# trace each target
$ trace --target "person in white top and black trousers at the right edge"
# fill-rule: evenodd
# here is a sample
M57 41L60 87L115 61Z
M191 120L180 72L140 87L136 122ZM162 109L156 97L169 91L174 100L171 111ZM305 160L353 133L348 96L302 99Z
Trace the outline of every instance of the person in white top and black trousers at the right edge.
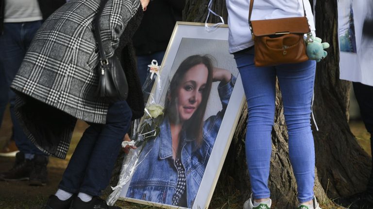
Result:
M361 31L356 32L357 34L361 32L361 42L357 49L360 67L348 69L351 74L343 79L352 81L361 119L371 135L371 149L373 151L373 60L371 55L373 52L373 1L362 2L358 6L361 12L356 15L360 15L363 20L357 22L362 27ZM335 201L349 209L373 209L373 164L365 191L338 198Z

